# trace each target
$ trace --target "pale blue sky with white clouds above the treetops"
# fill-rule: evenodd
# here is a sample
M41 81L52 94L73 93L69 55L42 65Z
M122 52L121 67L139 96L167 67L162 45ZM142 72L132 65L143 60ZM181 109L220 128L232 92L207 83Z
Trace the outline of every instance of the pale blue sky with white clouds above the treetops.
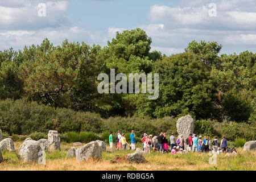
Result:
M255 53L256 1L0 0L0 50L45 38L55 46L65 39L106 46L115 32L134 28L151 37L151 51L166 55L183 52L192 40L216 41L221 53Z

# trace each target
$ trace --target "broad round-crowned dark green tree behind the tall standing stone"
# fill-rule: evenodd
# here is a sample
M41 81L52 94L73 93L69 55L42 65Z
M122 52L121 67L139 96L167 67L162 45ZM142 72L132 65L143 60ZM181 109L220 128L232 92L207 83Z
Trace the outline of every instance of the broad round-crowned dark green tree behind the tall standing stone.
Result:
M148 100L141 94L136 101L137 115L162 118L182 114L207 119L213 113L216 84L197 56L185 52L155 63L159 73L159 98Z

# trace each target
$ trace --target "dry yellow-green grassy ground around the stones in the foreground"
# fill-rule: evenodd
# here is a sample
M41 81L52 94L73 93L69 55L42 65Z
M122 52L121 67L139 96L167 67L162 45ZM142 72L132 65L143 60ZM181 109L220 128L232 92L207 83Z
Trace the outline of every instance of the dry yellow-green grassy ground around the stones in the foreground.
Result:
M76 158L66 159L65 155L72 143L61 143L61 150L47 152L46 165L23 163L19 159L18 148L21 142L15 142L15 152L2 151L3 162L0 170L256 170L256 151L242 151L238 148L237 155L217 155L217 164L209 164L209 154L187 153L182 155L156 154L145 156L147 163L134 164L126 160L130 150L112 153L103 152L100 159L89 159L77 162ZM108 147L107 147L108 148Z

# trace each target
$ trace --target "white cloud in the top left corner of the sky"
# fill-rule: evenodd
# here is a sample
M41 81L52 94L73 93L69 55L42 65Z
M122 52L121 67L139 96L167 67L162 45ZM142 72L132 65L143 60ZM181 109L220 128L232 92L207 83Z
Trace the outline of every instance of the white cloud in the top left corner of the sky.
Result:
M2 1L2 0L1 0ZM38 4L44 1L7 1L0 3L0 30L29 30L61 27L71 23L65 16L67 1L46 1L46 16L39 17Z

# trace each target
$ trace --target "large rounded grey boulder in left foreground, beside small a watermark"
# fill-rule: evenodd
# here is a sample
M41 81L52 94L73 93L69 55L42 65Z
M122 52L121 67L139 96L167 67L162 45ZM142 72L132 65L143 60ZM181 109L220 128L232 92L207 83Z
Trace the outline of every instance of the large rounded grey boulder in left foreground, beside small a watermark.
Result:
M38 141L27 140L19 147L19 155L23 162L38 162L41 147Z

